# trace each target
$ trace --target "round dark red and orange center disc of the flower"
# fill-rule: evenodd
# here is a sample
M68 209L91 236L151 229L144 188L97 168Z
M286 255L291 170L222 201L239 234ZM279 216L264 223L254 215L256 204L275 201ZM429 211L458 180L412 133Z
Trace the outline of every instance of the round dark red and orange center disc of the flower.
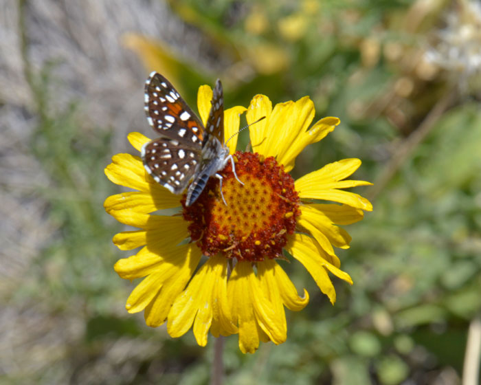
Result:
M210 178L192 206L186 207L182 199L190 237L206 256L222 252L240 261L282 257L287 234L293 234L300 215L294 180L274 157L238 151L234 159L244 185L228 163L221 172L227 206L216 178Z

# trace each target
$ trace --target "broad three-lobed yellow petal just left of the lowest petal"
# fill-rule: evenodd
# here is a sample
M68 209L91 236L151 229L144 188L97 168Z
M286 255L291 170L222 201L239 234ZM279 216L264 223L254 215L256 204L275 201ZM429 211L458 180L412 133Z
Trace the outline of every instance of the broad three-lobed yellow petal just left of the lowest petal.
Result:
M194 322L197 343L205 347L212 321L217 320L225 334L237 332L230 321L227 305L227 260L214 256L195 274L187 289L177 297L168 314L167 331L172 337L185 334Z

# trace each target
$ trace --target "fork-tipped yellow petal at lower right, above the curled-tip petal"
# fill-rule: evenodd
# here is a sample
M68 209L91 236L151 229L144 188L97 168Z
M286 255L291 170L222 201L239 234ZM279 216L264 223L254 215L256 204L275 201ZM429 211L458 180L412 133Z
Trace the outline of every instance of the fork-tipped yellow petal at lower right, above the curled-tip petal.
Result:
M339 270L335 265L323 258L324 253L322 249L316 247L310 236L293 234L287 243L286 250L306 267L307 271L314 278L315 283L317 283L317 286L321 289L321 292L328 296L331 303L335 303L336 293L326 269L351 285L353 284L353 280L349 274Z

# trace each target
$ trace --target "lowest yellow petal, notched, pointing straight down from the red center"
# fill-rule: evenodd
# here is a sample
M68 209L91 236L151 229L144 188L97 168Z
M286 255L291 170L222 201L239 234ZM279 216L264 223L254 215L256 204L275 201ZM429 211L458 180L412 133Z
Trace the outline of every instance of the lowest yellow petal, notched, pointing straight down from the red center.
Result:
M243 353L254 353L259 339L265 340L258 328L275 344L286 340L282 327L284 319L273 311L248 261L238 262L232 270L227 283L227 298L234 324L238 324L239 348Z

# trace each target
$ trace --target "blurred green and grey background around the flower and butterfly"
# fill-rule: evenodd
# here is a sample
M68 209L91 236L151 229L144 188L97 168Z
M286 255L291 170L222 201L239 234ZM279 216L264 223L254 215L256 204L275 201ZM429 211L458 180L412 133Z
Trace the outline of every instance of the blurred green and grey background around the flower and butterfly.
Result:
M309 95L342 124L293 176L359 157L374 211L346 226L350 287L287 342L226 339L227 384L476 384L481 309L481 4L447 0L0 0L0 383L208 384L213 341L170 338L125 301L130 255L102 203L126 135L153 133L157 70L196 110ZM247 143L244 135L240 147ZM462 373L465 371L465 375ZM464 377L464 382L462 378ZM471 382L469 382L471 381Z

